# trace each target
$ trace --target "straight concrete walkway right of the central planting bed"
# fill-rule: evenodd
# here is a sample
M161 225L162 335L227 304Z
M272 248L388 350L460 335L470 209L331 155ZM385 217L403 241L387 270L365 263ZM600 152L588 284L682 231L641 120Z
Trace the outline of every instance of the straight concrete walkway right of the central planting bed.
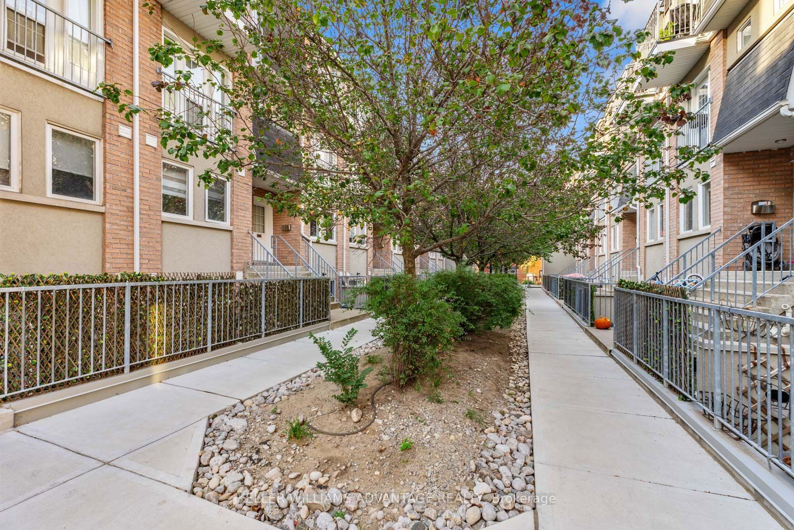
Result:
M527 308L542 530L780 528L549 296Z

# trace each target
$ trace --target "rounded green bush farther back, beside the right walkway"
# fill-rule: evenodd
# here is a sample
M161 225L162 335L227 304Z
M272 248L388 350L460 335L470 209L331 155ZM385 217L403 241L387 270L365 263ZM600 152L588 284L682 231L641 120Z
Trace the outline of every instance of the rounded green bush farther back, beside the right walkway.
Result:
M521 314L524 291L512 274L476 273L458 267L439 271L429 281L463 315L466 332L510 327Z

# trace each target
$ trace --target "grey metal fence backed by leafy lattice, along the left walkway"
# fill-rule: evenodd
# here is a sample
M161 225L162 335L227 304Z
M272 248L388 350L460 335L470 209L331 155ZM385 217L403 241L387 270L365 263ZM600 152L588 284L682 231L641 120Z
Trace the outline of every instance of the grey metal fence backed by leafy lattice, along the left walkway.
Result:
M0 288L0 400L127 373L329 319L328 281Z

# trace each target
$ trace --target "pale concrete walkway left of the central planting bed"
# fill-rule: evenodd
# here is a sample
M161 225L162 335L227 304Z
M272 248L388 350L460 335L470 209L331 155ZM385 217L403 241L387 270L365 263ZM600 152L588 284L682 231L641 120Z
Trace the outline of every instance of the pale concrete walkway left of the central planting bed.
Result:
M372 340L318 335L351 327ZM0 434L0 528L272 528L188 493L206 418L321 359L299 339Z

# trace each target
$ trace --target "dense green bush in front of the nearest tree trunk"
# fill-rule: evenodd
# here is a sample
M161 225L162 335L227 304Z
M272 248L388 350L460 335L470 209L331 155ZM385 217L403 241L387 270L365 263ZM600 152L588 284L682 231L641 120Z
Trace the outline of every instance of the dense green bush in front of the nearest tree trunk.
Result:
M463 333L464 318L429 280L406 274L375 277L364 288L365 309L377 319L373 335L391 349L391 377L400 388L441 366L439 354Z

